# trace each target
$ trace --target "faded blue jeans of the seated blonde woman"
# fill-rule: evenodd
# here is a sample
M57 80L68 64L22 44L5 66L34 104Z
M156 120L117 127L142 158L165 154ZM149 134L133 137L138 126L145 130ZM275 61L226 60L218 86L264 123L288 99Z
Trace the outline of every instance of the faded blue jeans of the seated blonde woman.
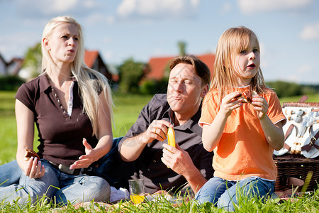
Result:
M45 175L37 179L29 178L18 167L20 169L18 183L0 185L0 201L4 200L12 204L13 200L19 198L19 204L25 204L29 201L34 203L37 201L37 197L41 198L43 196L48 199L55 199L53 202L62 205L66 205L68 201L75 204L78 202L90 202L91 200L96 202L106 202L109 200L111 194L110 185L103 178L61 173L60 170L50 165L47 160L42 160L42 164L45 165ZM1 165L1 171L3 171L3 166ZM14 167L14 165L8 166ZM15 176L17 174L14 171L11 171L11 173ZM8 175L6 173L6 177ZM1 179L4 178L0 177ZM14 182L14 179L10 179L9 182Z

